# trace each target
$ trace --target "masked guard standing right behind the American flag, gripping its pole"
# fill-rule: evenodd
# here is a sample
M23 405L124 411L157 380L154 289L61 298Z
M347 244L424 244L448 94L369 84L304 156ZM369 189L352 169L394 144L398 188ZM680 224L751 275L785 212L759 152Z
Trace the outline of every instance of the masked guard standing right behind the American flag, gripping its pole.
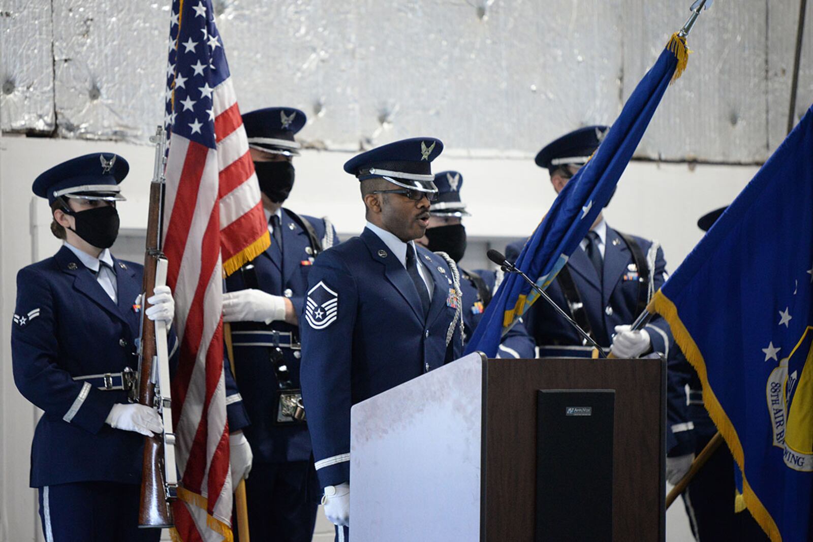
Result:
M302 411L299 319L314 259L337 242L327 218L283 207L293 188L294 135L302 111L268 107L243 115L271 246L226 280L237 388L248 410L254 459L246 479L249 528L257 540L311 540L320 488Z

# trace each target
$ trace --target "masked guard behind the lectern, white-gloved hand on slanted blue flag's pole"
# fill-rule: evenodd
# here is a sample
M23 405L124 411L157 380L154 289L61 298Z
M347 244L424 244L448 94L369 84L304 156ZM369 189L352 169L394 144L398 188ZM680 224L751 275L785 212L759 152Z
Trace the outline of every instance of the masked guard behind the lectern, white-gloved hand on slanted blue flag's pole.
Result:
M550 172L556 193L587 163L607 129L580 128L539 151L537 166ZM524 242L506 247L509 261L516 261ZM567 260L546 293L599 345L612 345L615 356L637 358L654 351L668 357L672 335L663 319L654 318L642 331L630 331L629 325L663 284L665 267L658 243L610 228L599 213L580 249ZM572 326L544 301L537 301L528 310L525 325L537 342L540 358L589 357L592 353L593 347L585 345Z

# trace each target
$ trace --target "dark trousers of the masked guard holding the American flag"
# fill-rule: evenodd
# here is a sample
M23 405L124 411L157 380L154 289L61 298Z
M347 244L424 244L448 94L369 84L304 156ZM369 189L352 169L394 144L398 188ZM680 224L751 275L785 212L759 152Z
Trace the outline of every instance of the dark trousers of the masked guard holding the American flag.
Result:
M311 542L320 494L312 461L254 463L246 479L251 540Z

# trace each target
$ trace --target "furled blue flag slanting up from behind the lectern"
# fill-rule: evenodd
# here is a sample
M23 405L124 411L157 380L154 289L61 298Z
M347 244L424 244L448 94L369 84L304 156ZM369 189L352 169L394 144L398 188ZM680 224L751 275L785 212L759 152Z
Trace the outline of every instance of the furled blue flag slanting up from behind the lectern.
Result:
M672 35L658 61L638 83L598 150L554 200L525 243L515 266L547 288L610 201L615 185L633 158L669 82L680 77L689 50L685 37ZM500 337L520 319L539 294L522 277L506 275L469 340L466 353L497 354Z

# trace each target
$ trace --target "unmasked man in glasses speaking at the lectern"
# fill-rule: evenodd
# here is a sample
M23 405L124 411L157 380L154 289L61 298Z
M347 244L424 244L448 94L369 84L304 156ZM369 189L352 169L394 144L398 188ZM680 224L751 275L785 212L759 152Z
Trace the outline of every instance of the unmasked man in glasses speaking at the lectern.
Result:
M347 540L350 406L459 358L454 260L415 244L437 198L431 163L443 143L418 137L351 158L367 227L316 260L302 318L302 396L324 512Z

